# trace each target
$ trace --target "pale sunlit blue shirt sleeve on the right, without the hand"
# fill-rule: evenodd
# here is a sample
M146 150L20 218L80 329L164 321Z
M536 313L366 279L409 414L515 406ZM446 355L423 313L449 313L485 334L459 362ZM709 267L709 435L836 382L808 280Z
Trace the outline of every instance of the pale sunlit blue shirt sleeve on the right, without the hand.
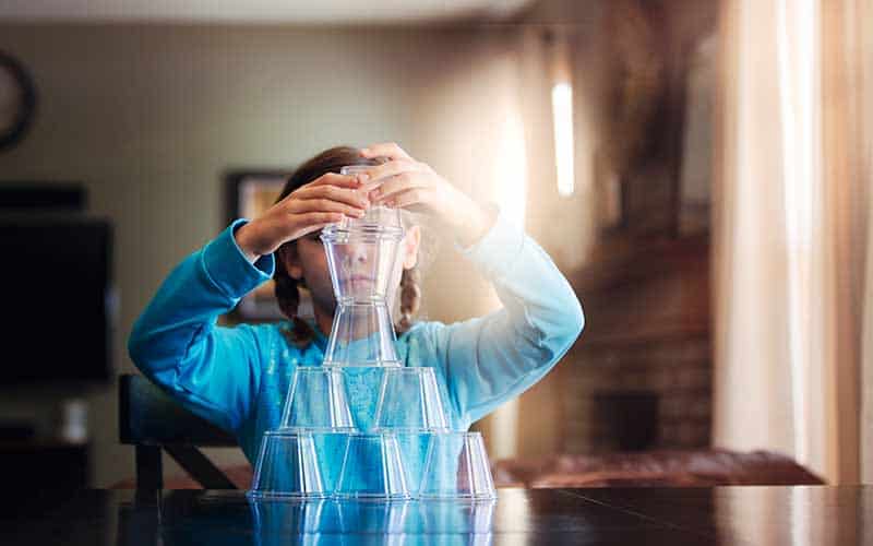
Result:
M584 316L549 256L504 215L461 251L503 304L488 316L431 329L450 397L469 425L542 378L576 341Z

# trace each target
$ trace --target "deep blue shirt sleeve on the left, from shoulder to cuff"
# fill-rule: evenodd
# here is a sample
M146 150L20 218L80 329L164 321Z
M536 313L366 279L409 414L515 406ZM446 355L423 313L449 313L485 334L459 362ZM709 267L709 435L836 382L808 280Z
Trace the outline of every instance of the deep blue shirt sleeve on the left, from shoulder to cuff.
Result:
M218 317L275 269L273 256L249 262L237 246L238 219L169 274L133 325L136 367L182 405L238 430L258 393L259 339L250 325L217 327Z

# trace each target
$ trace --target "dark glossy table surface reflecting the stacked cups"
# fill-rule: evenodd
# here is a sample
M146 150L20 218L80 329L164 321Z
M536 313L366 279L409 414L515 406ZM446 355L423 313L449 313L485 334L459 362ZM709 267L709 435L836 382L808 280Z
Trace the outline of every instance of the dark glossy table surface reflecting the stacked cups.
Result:
M254 502L241 491L9 492L0 544L873 545L873 487L500 489L495 502Z

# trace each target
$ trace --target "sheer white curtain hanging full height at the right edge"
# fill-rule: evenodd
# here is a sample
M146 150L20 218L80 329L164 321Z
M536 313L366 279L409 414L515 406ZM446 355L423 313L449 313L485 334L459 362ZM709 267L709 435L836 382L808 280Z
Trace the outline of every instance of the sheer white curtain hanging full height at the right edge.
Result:
M714 441L832 483L865 430L870 3L725 0L720 29Z

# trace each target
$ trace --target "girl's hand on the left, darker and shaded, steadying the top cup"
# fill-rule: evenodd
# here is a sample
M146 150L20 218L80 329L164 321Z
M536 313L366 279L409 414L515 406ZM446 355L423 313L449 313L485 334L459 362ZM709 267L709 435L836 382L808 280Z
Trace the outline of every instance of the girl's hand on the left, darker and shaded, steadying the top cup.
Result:
M367 175L327 173L301 186L236 230L234 237L249 261L276 251L283 244L340 222L361 217L370 206Z

